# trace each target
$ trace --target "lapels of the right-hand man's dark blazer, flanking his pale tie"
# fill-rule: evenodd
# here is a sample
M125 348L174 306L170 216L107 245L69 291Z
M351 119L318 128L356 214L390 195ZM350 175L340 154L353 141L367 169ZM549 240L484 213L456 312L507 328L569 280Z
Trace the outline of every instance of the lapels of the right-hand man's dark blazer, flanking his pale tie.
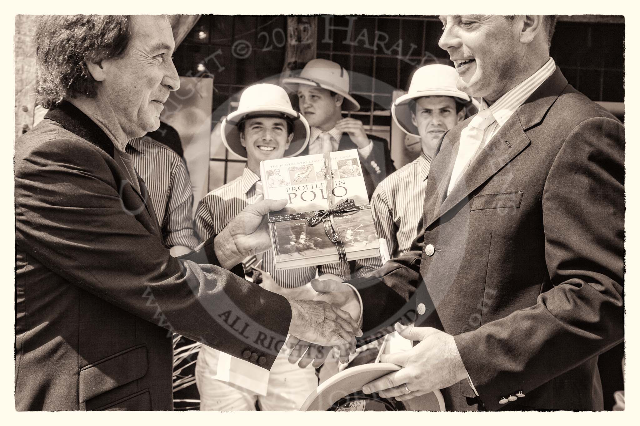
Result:
M427 226L433 224L435 220L438 220L459 202L468 199L468 195L476 190L478 186L490 179L529 146L531 141L529 141L525 131L542 121L548 109L556 102L557 97L566 87L566 84L566 79L560 69L556 67L556 71L527 98L520 108L516 110L515 114L504 123L498 133L493 136L491 141L486 144L484 149L480 151L460 181L452 188L451 194L440 204L440 208L436 207L437 213L427 222ZM452 133L451 138L447 137L449 141L456 141L456 143L451 144L454 147L451 149L451 162L449 163L449 169L447 169L448 174L439 180L438 194L441 197L443 196L442 194L445 194L442 191L446 191L449 186L450 169L453 167L452 164L455 162L458 146L460 146L460 133L466 125L467 121L456 126L456 132L449 132ZM453 137L455 139L452 139Z

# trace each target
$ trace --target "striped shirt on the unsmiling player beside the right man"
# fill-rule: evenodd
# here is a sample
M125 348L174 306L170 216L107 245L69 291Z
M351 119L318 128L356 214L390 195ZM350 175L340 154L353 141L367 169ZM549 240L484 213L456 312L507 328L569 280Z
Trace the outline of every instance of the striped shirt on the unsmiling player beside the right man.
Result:
M371 214L378 238L387 241L389 255L392 258L408 252L418 234L429 167L431 157L423 152L418 158L381 181L371 196ZM381 266L380 257L356 261L356 270L362 275Z

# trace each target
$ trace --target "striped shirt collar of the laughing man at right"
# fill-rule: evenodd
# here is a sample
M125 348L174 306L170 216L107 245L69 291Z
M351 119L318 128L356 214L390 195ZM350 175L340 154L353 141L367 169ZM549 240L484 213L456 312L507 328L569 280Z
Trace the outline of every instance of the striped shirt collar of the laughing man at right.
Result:
M552 73L556 70L556 62L552 57L549 58L547 63L540 68L540 70L534 72L528 79L524 80L518 86L513 87L504 95L493 103L490 107L491 113L500 126L516 112L516 109L522 105L529 96L541 86L545 80L547 80ZM480 110L487 108L484 98L480 99Z

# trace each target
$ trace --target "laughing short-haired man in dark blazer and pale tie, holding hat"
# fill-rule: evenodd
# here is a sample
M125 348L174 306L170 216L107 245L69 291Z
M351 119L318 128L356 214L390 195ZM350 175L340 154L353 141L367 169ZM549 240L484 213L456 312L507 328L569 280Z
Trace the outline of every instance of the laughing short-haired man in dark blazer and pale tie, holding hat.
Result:
M365 337L415 319L396 330L417 344L380 360L403 368L363 390L442 389L461 411L602 409L598 354L624 335L623 125L548 56L555 17L440 19L481 111L440 141L412 251L351 281Z

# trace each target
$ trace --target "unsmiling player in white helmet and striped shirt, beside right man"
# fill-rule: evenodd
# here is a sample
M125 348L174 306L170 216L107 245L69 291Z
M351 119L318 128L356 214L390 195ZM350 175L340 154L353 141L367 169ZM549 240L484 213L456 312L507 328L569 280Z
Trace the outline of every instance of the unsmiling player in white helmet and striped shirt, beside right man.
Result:
M391 105L391 116L404 133L420 137L420 156L384 179L371 197L376 232L387 241L390 256L410 250L418 232L429 167L436 146L447 130L465 119L472 103L456 87L458 72L449 65L425 65L413 73L409 91ZM367 272L382 266L380 257L362 259Z

